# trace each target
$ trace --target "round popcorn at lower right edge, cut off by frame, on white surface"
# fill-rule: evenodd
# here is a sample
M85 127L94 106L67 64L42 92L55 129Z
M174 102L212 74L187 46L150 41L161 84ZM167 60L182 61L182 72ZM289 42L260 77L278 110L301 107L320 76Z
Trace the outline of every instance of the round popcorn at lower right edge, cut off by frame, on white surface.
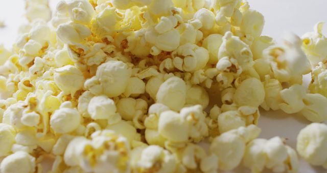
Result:
M312 165L323 165L327 169L327 126L322 123L311 123L301 129L297 136L298 154Z

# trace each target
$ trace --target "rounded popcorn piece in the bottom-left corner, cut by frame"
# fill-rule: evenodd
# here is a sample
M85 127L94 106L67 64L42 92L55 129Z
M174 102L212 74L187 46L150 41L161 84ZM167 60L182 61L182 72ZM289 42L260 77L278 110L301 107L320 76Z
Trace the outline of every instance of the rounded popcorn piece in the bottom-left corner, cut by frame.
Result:
M32 173L35 171L35 158L26 152L16 152L12 155L7 156L1 162L0 170L4 173Z

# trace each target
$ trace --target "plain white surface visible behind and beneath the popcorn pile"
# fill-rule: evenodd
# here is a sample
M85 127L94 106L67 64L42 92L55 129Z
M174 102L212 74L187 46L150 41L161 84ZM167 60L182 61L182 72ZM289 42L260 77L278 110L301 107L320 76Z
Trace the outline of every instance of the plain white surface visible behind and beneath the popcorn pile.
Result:
M58 0L50 0L52 7ZM285 32L302 35L312 31L318 21L327 21L325 12L327 0L248 0L252 9L261 12L266 19L263 35L281 40ZM0 20L5 20L5 28L0 28L0 44L10 48L16 39L19 24L24 19L23 0L1 0ZM324 32L326 33L326 32ZM305 79L310 81L310 77ZM287 138L287 144L295 148L296 136L309 121L300 115L287 115L283 112L264 112L259 121L262 128L261 138L281 136ZM246 172L242 168L233 172ZM268 172L268 171L267 171ZM300 173L327 172L321 167L312 167L301 160Z

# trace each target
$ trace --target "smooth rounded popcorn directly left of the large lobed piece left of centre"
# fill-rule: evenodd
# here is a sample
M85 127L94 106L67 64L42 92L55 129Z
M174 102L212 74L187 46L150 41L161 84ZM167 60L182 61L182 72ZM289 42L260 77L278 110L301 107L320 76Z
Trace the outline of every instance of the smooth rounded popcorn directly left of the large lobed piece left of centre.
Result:
M72 96L83 88L85 81L83 73L72 65L56 69L54 79L60 90Z

